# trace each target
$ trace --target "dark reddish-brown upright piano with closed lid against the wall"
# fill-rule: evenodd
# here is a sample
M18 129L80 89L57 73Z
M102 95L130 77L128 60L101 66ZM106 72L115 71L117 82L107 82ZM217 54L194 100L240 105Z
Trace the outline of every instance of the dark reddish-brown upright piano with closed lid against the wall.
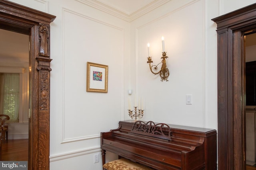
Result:
M120 121L118 129L101 133L102 163L108 150L156 170L216 170L216 134L214 129Z

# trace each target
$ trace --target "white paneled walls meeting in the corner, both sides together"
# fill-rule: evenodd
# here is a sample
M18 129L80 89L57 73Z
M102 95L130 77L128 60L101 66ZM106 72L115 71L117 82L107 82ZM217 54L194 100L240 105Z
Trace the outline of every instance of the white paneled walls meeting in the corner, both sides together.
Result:
M128 23L82 1L12 0L57 16L51 23L50 169L100 170L100 132L128 117L128 98L144 98L144 120L217 129L217 34L212 18L252 0L171 0ZM168 82L147 61L160 63ZM106 64L108 93L86 92L86 62ZM131 96L128 90L133 90ZM192 105L186 105L192 94ZM108 157L108 159L111 159Z

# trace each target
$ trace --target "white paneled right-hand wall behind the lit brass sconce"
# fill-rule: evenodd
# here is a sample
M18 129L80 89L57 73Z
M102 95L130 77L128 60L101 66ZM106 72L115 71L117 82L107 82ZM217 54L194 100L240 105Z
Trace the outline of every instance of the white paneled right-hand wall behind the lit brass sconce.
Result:
M212 96L212 104L215 104L213 115L206 108L208 88L216 90L215 84L208 86L208 69L214 71L216 78L217 53L209 52L211 42L217 42L216 25L210 19L218 16L218 12L212 12L208 18L208 8L211 10L218 6L204 0L172 0L161 8L148 13L140 19L132 22L134 41L137 48L132 49L136 55L137 64L136 84L138 98L145 98L146 111L144 120L154 120L178 125L217 128L216 94ZM157 12L156 12L157 11ZM162 11L165 11L163 14ZM207 30L211 31L208 35ZM133 35L133 33L131 33ZM151 55L154 64L161 62L162 43L165 39L167 51L167 67L170 72L168 82L161 82L159 76L155 76L146 64L148 56L147 43L151 46ZM212 36L209 40L209 36ZM214 44L216 45L216 43ZM208 59L212 63L208 66ZM215 63L215 64L214 64ZM160 64L161 66L161 64ZM208 68L209 67L209 68ZM146 88L145 88L146 87ZM186 94L192 94L192 105L186 105ZM210 106L209 106L210 107ZM208 117L212 120L210 125Z

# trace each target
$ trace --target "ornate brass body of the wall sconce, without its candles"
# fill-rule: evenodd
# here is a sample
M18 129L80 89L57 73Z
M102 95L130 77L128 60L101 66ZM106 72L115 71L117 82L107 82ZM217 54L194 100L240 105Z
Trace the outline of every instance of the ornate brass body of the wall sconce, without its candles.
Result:
M153 63L153 61L152 61L152 59L151 59L151 57L148 57L148 61L147 61L147 63L149 64L149 68L150 68L150 71L153 73L153 74L159 74L160 75L160 78L161 78L161 81L168 81L167 79L168 79L168 76L170 75L170 73L169 73L169 70L168 70L168 68L166 68L166 58L168 58L167 56L166 56L166 52L162 52L162 57L161 57L161 59L162 59L162 66L161 66L161 69L158 71L158 72L154 72L154 71L157 71L158 70L158 65L159 64L161 64L161 63L159 63L159 64L157 64L157 65L151 65L151 63ZM152 69L153 68L153 69ZM154 71L153 71L154 70Z

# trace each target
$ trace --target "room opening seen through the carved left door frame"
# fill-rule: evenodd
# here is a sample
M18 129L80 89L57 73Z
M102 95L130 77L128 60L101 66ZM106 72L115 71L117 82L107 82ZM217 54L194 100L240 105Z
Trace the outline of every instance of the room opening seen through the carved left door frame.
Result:
M6 121L8 140L6 136L6 141L2 143L1 157L4 161L28 161L29 36L0 29L0 37L0 73L2 77L19 74L17 86L20 96L18 106L6 103L6 106L10 106L7 110L1 107L1 114L10 116L10 120ZM2 99L4 101L4 97ZM17 149L22 152L17 152Z

